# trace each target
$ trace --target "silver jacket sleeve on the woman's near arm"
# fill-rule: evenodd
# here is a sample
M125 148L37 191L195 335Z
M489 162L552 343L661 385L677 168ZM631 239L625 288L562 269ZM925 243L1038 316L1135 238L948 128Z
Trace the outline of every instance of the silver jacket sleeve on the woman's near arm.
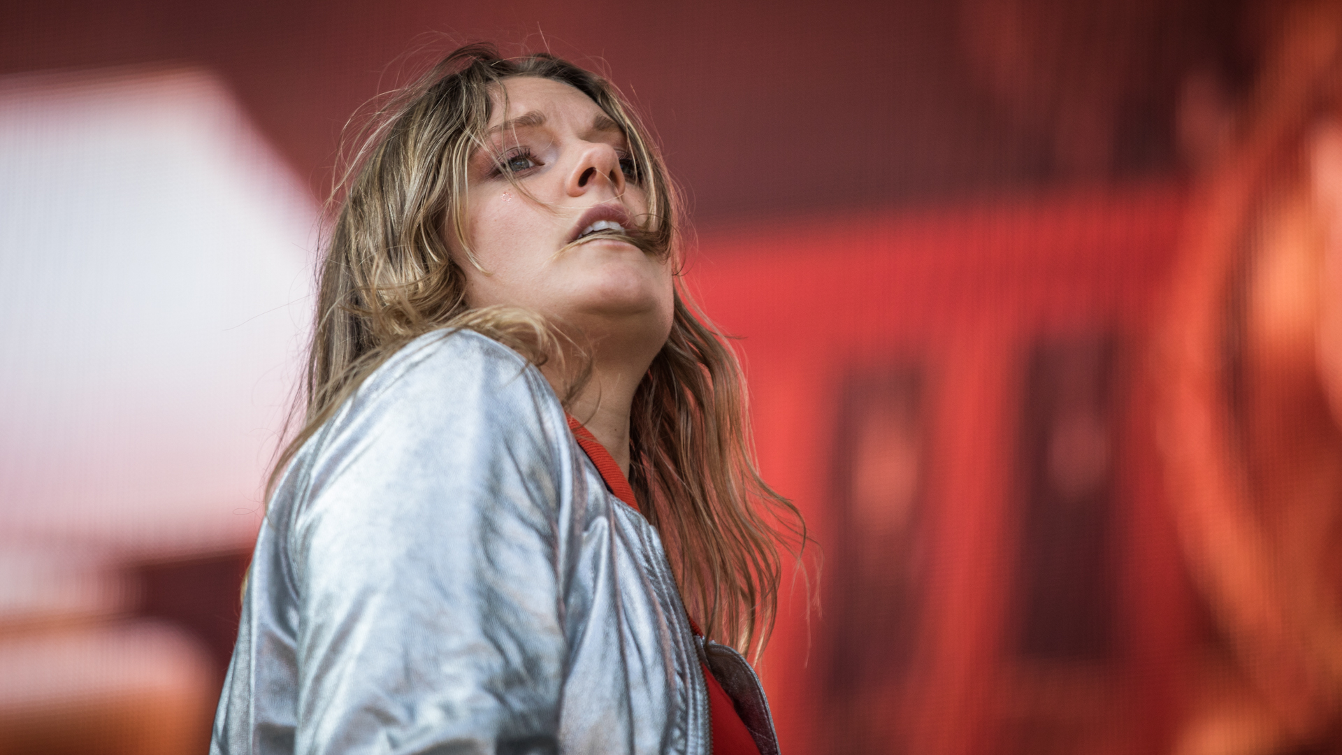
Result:
M562 410L482 336L403 355L330 423L293 515L295 752L557 752Z

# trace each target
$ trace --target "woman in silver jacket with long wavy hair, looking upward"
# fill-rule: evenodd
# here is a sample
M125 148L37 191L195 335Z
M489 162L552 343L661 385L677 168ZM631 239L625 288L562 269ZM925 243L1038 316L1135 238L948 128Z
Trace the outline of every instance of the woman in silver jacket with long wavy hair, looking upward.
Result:
M804 531L613 87L458 50L342 183L212 752L776 752Z

